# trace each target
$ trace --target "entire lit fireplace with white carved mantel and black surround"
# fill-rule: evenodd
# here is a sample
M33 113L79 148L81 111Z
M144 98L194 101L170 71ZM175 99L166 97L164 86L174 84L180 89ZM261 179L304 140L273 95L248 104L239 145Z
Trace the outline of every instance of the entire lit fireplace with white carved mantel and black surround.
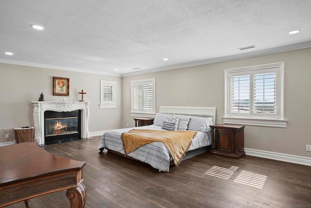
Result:
M64 139L75 140L89 137L89 102L32 103L34 104L35 141L38 145L62 142ZM56 114L46 117L46 114L51 113L50 111Z

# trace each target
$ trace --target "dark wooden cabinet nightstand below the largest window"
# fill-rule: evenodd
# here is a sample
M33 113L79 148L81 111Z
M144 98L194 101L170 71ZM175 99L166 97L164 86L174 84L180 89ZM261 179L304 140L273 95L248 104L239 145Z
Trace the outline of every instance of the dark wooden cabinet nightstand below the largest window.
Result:
M211 153L237 159L245 155L244 127L243 125L227 124L215 124L210 126L212 129Z

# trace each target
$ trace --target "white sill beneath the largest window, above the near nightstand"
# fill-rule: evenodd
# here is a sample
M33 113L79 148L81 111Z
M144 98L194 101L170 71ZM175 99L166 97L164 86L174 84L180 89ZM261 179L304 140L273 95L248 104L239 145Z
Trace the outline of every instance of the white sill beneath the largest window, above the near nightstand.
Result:
M287 120L223 117L224 123L286 128Z

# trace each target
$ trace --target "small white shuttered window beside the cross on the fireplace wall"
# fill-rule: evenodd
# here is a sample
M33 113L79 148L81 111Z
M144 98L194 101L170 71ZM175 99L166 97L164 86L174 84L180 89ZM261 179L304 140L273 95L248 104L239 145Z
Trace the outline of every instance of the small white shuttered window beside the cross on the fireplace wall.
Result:
M101 104L100 108L117 108L115 81L101 80Z

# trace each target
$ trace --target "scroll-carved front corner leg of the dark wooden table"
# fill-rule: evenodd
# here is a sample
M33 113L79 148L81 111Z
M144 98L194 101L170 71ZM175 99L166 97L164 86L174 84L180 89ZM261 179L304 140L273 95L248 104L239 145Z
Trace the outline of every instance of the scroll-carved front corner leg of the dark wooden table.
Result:
M70 200L70 208L84 208L86 205L86 187L83 183L77 188L68 189L66 196Z

